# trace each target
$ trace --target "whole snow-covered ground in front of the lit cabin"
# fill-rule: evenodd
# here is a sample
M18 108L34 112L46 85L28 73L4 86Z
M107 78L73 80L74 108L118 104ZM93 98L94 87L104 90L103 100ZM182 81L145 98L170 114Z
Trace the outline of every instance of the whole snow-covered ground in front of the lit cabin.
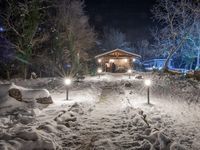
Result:
M146 78L153 82L150 105ZM134 73L131 79L124 74L86 77L73 83L68 101L62 79L12 82L32 101L49 96L47 89L54 103L27 107L27 101L6 95L10 85L1 81L0 149L200 149L197 81L151 73ZM4 108L5 101L16 109Z

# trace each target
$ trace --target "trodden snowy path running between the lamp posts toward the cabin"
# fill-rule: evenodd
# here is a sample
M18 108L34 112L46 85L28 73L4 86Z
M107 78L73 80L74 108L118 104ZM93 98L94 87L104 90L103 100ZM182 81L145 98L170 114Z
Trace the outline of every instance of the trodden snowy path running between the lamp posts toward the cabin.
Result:
M79 120L81 126L78 134L84 144L78 149L115 150L140 146L138 140L134 141L131 120L122 110L122 96L113 87L103 88L100 101L93 111ZM136 132L139 134L142 131Z

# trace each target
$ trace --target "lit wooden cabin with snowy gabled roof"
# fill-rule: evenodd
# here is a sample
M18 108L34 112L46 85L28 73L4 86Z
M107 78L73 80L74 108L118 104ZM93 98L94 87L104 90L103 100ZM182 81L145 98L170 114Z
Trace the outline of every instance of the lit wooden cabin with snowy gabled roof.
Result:
M104 72L127 72L133 69L134 62L141 58L140 55L127 52L122 49L115 49L95 56L98 66Z

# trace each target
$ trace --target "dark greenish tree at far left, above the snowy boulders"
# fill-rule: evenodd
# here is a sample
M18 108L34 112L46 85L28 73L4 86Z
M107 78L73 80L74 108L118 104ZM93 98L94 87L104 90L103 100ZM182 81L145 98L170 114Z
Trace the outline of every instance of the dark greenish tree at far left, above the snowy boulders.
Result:
M40 21L39 0L8 0L5 5L6 8L1 13L6 28L4 36L16 50L16 59L22 63L22 72L26 79Z

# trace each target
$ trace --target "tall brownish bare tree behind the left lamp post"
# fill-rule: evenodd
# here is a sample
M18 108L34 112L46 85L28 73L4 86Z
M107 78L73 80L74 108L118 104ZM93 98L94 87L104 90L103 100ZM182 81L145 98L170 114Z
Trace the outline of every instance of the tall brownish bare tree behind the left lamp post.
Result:
M94 46L96 34L84 13L83 1L60 0L57 6L53 29L57 69L64 75L63 66L68 63L70 72L76 73L81 69L81 61L87 60L87 50Z

